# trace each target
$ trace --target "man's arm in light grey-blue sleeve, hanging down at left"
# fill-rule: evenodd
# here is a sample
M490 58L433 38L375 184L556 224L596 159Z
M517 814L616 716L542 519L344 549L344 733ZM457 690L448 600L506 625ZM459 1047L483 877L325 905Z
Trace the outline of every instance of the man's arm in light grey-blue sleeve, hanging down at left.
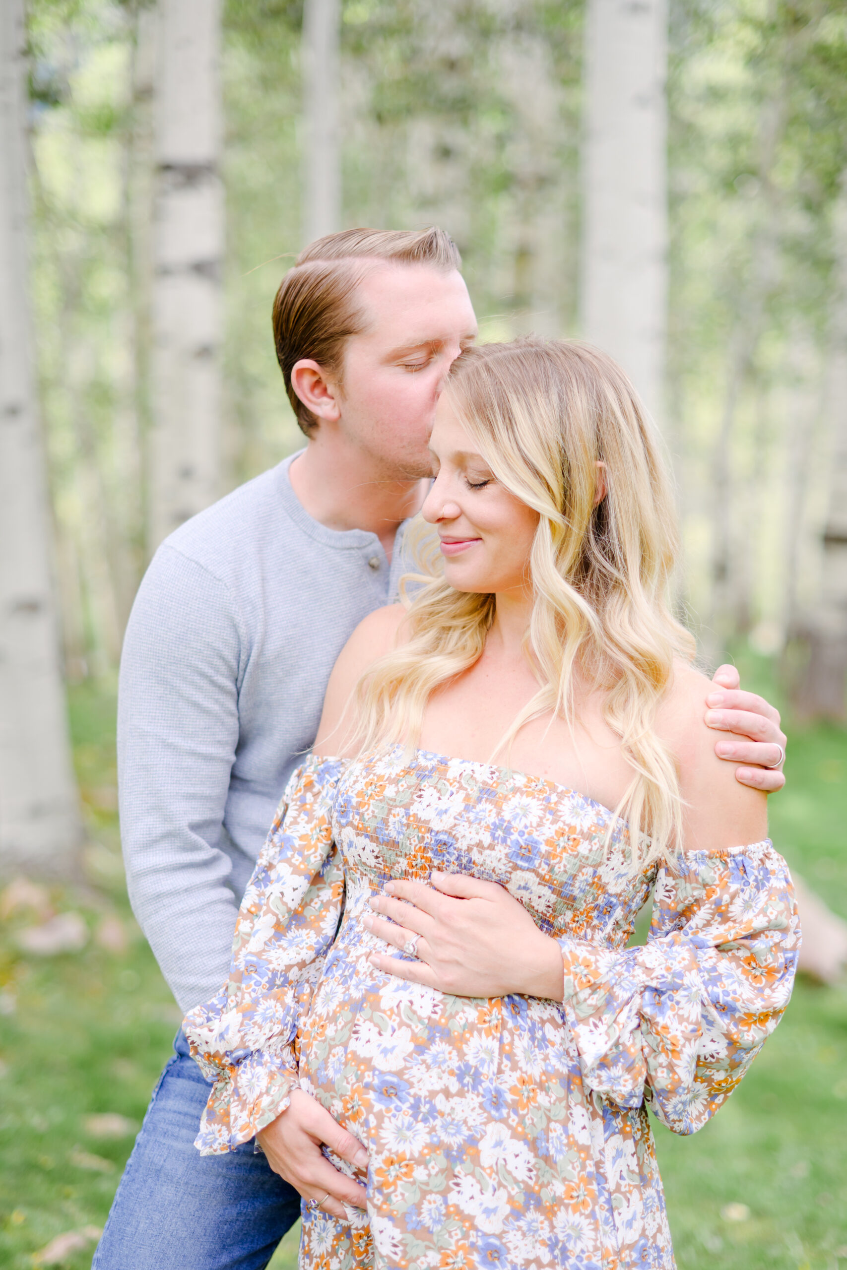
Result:
M121 659L118 790L132 908L184 1011L230 968L237 903L221 841L243 640L226 587L160 547Z

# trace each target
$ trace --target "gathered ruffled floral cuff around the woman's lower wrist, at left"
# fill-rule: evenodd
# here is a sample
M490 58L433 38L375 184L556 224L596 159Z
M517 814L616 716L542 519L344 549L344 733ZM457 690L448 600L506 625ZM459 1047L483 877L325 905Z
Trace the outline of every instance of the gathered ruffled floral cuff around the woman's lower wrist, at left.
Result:
M293 999L286 993L284 1003L270 994L246 1035L244 1016L226 1008L225 992L185 1017L192 1057L215 1082L194 1142L202 1156L249 1142L287 1109L298 1086L297 1020L309 1008L311 992L311 984L301 984ZM239 1030L241 1044L231 1049Z

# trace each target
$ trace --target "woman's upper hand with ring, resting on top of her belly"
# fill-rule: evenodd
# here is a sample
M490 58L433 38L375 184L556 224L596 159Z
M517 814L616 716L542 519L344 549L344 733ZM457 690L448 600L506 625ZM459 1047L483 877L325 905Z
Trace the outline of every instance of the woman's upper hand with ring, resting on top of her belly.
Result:
M401 949L419 935L415 961L380 952L371 964L400 979L424 983L456 997L549 997L561 1001L564 969L555 940L544 935L526 908L503 886L464 874L432 874L432 885L386 883L370 900L363 922L386 944Z

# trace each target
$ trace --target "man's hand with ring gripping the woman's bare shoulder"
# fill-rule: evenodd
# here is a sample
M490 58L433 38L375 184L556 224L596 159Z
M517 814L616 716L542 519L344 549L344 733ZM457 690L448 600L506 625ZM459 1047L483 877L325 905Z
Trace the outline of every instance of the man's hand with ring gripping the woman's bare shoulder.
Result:
M780 758L785 761L786 738L780 730L780 711L754 692L742 692L734 665L719 665L712 683L715 691L706 697L706 724L717 732L737 734L735 740L721 738L716 742L715 753L730 763L753 765L737 768L735 780L750 789L776 794L785 785ZM780 766L771 767L771 763Z

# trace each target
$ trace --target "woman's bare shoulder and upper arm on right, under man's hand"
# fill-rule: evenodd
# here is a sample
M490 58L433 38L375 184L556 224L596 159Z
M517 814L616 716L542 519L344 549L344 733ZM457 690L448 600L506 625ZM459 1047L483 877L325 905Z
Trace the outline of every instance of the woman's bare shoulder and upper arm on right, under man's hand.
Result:
M737 765L715 753L717 734L705 721L711 687L702 672L678 660L657 718L677 761L687 851L721 851L767 837L767 795L740 785Z

